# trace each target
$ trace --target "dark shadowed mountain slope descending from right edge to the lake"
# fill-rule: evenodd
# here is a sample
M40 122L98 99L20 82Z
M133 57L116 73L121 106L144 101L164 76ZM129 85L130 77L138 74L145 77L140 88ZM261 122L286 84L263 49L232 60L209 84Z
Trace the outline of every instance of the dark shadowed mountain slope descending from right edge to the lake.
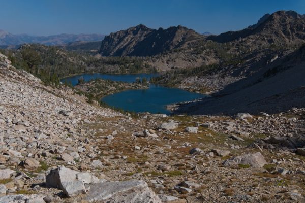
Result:
M305 46L227 85L208 99L181 105L189 114L277 113L305 104ZM208 107L208 108L206 108Z

